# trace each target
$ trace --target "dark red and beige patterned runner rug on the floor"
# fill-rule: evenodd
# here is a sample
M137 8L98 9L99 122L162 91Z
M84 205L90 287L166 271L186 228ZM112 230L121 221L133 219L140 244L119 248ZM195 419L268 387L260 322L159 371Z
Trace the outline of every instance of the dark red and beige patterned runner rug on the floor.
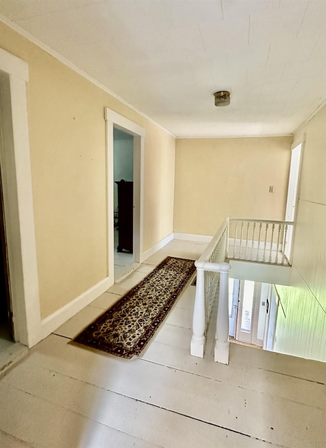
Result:
M121 358L140 356L195 269L194 260L167 257L74 342Z

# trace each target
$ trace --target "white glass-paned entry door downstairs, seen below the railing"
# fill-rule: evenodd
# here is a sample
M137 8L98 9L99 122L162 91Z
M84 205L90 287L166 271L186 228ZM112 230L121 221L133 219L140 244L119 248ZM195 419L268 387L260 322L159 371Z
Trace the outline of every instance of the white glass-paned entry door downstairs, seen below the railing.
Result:
M273 285L230 278L230 340L273 351L278 311L276 297Z

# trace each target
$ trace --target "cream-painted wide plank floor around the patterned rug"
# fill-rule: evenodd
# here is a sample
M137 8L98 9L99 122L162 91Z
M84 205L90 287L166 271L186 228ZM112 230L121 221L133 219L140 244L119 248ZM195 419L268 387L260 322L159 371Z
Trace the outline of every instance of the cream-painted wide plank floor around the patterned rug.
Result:
M195 287L188 286L141 359L123 361L69 339L167 255L172 241L35 346L0 381L0 446L326 446L326 364L231 343L230 365L189 355Z

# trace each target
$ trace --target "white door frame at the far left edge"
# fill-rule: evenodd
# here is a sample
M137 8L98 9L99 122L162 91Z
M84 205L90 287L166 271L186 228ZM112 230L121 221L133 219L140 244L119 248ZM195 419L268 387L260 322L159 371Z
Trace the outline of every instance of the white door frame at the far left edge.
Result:
M32 174L26 102L26 62L0 48L0 166L15 340L42 339Z

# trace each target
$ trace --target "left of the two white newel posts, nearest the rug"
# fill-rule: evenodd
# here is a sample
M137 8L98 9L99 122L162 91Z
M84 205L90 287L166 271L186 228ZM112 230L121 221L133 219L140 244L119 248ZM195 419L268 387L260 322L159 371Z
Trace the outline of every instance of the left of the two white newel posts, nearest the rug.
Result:
M204 357L205 352L205 291L204 291L204 263L195 261L197 267L196 295L193 315L193 337L190 344L190 354Z

